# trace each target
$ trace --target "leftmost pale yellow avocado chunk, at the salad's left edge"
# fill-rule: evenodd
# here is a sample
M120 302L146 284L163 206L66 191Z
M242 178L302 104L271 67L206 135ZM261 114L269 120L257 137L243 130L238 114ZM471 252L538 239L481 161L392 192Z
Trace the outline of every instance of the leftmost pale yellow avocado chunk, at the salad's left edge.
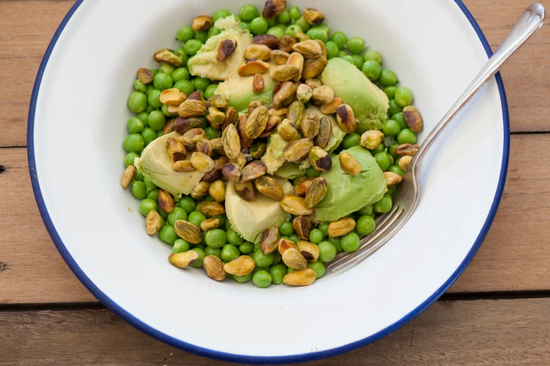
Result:
M161 189L168 191L176 199L183 194L190 194L193 188L201 182L204 173L199 170L192 172L175 172L172 170L172 158L166 149L166 140L169 137L178 137L178 133L168 133L151 142L140 158L135 159L135 167L144 177L152 180ZM191 154L187 156L190 158Z

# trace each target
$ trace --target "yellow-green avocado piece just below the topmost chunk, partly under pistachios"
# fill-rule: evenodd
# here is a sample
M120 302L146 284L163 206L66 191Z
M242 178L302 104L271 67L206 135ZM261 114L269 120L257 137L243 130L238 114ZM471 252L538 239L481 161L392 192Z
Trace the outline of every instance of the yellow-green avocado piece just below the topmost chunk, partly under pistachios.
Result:
M276 66L271 64L271 67ZM266 72L262 75L264 78L264 90L256 94L252 90L254 76L231 76L229 79L217 86L216 94L221 94L227 99L227 104L241 113L246 113L248 104L260 100L264 105L273 102L273 89L277 82L269 77Z

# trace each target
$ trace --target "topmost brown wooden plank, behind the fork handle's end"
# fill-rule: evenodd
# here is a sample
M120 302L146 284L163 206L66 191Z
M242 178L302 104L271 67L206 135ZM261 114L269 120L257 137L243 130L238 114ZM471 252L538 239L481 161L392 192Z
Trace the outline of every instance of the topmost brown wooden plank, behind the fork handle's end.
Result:
M523 0L495 6L494 0L465 1L496 48L514 24ZM26 145L27 106L34 76L48 43L73 1L0 1L0 147ZM29 11L32 9L32 11ZM550 27L543 27L521 53L504 67L511 128L549 131L546 110L550 107ZM19 72L13 77L13 70Z

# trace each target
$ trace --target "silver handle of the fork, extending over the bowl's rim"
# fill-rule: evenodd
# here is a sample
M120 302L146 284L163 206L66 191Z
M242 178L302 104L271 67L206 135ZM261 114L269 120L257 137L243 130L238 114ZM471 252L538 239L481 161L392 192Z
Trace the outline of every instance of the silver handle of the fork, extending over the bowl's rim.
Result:
M410 162L410 169L416 170L417 168L420 168L422 158L424 158L431 145L434 144L436 138L441 135L443 130L449 125L452 118L457 115L460 109L464 107L464 104L466 104L471 97L473 97L481 89L481 87L483 87L485 83L492 78L492 76L497 74L504 62L507 62L507 60L514 55L514 53L516 53L516 51L519 50L521 46L523 46L523 44L528 41L533 34L535 34L535 32L537 32L537 30L542 26L545 17L546 12L544 11L544 6L541 4L531 4L527 9L525 9L523 15L521 15L506 38L504 38L504 41L502 41L500 47L495 51L495 53L493 53L487 63L485 63L474 81L471 82L460 98L458 98L457 102L441 119L436 128L434 128L426 140L424 140L424 143L418 149L415 157L412 158L412 161Z

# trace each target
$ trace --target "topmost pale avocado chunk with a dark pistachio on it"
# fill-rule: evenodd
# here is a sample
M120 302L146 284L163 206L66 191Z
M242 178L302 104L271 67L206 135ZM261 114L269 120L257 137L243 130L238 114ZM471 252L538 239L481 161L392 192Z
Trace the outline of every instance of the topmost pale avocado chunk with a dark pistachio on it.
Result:
M235 21L233 15L217 20L215 27L224 30L217 36L211 36L203 44L201 50L189 59L187 67L189 67L189 73L194 76L226 80L237 74L237 70L244 60L244 52L252 43L252 35L239 27L239 23ZM217 60L217 47L224 39L237 41L237 46L227 60L220 62ZM252 83L250 83L250 88L252 88Z

